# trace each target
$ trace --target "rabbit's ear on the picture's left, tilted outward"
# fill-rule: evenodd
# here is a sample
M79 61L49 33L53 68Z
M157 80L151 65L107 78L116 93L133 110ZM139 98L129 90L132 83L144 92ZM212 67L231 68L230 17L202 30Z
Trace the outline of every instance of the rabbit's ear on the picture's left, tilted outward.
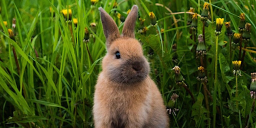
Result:
M106 48L108 49L111 42L120 37L120 32L110 15L102 7L99 7L98 10L100 11L103 31L106 37Z

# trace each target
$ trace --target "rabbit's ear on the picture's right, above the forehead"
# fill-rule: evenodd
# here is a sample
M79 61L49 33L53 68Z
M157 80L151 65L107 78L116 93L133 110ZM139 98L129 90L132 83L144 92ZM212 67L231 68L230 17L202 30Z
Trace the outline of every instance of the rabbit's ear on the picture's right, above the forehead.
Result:
M133 5L127 18L125 19L123 28L122 28L122 36L135 38L134 28L138 15L138 7L137 5Z

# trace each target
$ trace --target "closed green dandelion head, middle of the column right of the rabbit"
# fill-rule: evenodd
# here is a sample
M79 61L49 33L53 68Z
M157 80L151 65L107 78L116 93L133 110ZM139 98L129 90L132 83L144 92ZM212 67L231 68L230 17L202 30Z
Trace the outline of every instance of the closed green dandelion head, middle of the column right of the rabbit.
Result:
M203 35L198 35L198 43L196 46L196 57L204 56L206 54L206 47L203 41Z

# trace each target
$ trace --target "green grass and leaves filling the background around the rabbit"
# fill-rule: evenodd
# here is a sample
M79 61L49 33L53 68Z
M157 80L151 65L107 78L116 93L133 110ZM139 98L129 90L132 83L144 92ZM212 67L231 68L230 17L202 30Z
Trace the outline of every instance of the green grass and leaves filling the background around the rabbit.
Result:
M116 0L117 7L113 8L114 1L100 0L92 5L89 0L0 0L0 127L93 127L94 85L106 52L97 8L102 6L109 12L121 29L123 23L117 12L125 17L133 4L145 19L147 31L136 32L136 38L150 62L151 78L165 104L173 93L179 95L172 106L179 110L169 115L170 127L256 126L256 112L251 111L254 101L248 89L250 73L256 72L255 1L206 1L211 15L208 26L203 26L198 16L194 34L197 38L204 28L207 54L202 60L207 82L196 79L202 61L196 58L198 41L190 38L187 24L189 8L200 15L204 0ZM67 8L72 10L72 18L77 18L77 25L63 16L61 10ZM150 25L150 11L156 16L156 26ZM241 12L245 22L251 23L251 38L247 47L241 48L246 52L241 76L236 79L232 60L239 59L239 48L232 45L230 53L224 25L216 40L214 21L224 18L231 22L233 32L238 32ZM6 26L3 21L7 21ZM137 20L136 31L139 23ZM9 36L9 28L14 38ZM187 89L175 83L175 65L180 67L194 103Z

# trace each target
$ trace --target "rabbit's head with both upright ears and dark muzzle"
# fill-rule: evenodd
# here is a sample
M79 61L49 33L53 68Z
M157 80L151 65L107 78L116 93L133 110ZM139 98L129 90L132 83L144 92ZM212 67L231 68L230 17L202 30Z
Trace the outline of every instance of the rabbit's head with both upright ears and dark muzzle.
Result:
M143 56L141 44L135 39L134 27L138 7L133 5L125 19L122 34L114 20L99 7L107 53L102 60L102 72L110 81L133 84L144 80L149 73L149 63Z

